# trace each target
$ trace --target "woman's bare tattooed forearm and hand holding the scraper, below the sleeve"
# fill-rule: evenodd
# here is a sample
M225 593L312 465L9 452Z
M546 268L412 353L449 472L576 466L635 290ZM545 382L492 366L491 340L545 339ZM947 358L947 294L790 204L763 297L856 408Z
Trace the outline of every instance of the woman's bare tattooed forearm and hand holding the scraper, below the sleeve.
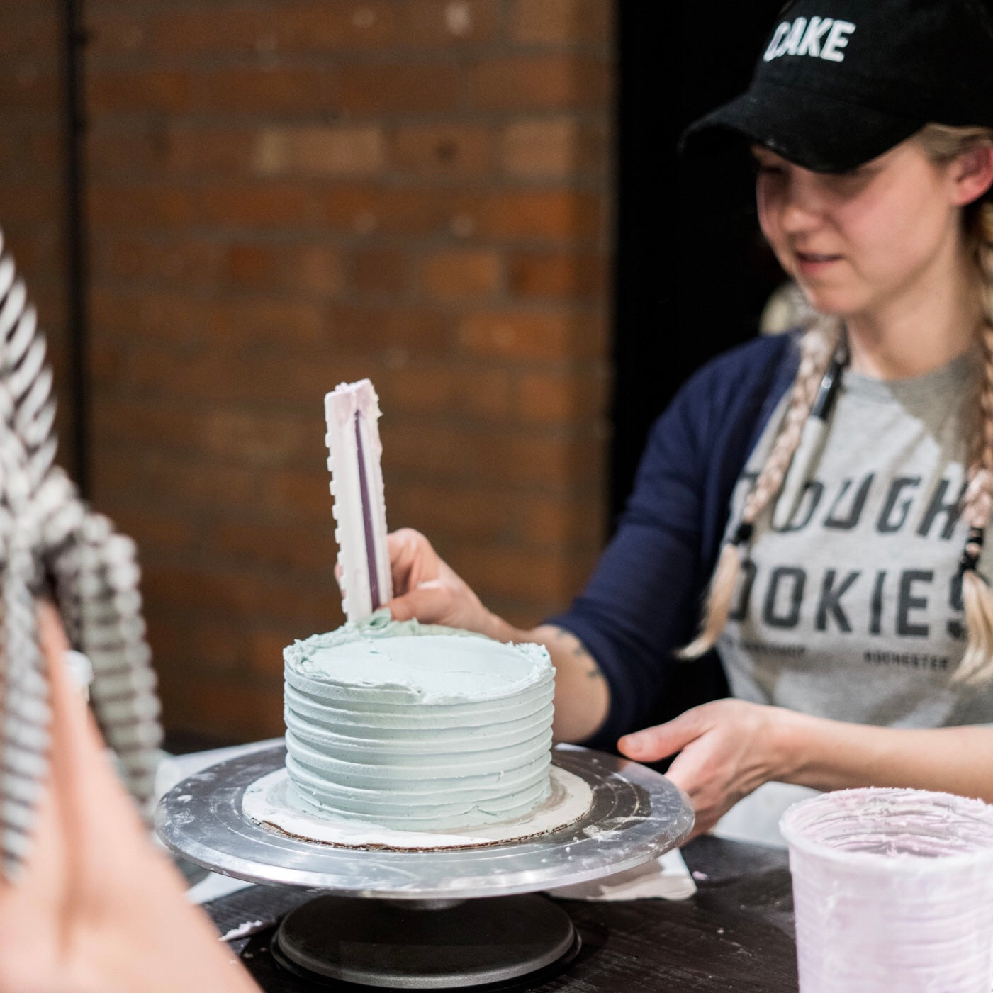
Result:
M610 689L579 638L552 625L524 631L507 624L483 606L419 531L394 531L388 541L393 588L398 594L387 605L394 620L416 618L424 624L462 628L498 641L543 644L555 666L555 740L584 741L599 729L610 708Z

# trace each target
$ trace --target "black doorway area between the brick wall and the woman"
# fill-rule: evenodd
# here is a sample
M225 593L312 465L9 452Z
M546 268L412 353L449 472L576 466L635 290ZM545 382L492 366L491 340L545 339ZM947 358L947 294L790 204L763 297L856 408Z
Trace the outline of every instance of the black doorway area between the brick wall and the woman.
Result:
M709 358L756 333L782 276L747 163L687 164L682 130L748 85L783 0L619 0L612 508L651 422Z

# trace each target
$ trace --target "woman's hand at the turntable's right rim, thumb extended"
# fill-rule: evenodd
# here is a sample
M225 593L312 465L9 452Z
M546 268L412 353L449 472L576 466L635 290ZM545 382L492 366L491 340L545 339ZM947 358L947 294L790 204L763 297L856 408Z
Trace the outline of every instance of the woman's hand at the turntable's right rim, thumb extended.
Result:
M696 811L690 837L710 830L743 796L777 779L782 711L745 700L715 700L667 724L626 735L620 751L636 762L676 755L665 774Z

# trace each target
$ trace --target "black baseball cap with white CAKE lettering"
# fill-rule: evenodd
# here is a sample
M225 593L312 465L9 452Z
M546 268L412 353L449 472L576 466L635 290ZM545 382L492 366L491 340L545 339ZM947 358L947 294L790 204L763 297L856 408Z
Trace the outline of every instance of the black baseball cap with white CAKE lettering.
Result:
M747 92L696 121L692 155L747 139L806 169L854 169L925 124L993 127L983 0L797 0Z

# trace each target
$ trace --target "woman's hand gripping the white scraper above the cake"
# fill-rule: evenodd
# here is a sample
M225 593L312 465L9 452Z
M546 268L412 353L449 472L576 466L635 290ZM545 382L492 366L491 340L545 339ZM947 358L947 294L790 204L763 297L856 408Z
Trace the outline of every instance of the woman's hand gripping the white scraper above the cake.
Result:
M394 621L420 621L502 638L503 622L488 611L466 582L444 562L420 531L405 527L388 535Z

